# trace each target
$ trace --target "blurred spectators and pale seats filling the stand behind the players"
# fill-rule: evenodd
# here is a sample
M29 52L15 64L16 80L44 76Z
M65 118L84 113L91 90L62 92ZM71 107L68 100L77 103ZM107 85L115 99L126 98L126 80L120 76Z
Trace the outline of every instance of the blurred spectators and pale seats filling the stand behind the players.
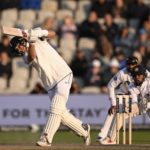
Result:
M149 0L35 1L16 0L18 5L14 6L6 0L9 7L0 7L0 23L22 29L54 30L57 36L49 42L73 71L71 93L107 93L107 83L125 66L130 55L150 69ZM4 12L14 9L17 19L11 17L4 22ZM28 15L23 20L23 12L34 12L35 16ZM9 40L7 35L1 35L1 93L46 93L32 67L27 68L21 58L11 57Z

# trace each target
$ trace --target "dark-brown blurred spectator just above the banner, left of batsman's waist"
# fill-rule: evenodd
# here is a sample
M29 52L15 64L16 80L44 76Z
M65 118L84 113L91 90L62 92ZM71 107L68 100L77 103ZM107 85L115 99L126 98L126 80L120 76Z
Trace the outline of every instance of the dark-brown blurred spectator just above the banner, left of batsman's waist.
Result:
M42 84L40 82L37 82L31 90L30 94L46 94L46 90L43 88Z

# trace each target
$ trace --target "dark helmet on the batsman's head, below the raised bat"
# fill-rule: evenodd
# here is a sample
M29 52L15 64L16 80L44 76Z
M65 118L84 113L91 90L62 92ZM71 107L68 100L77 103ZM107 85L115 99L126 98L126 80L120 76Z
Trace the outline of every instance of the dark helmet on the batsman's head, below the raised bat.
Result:
M22 44L22 45L26 46L27 40L23 37L18 37L18 36L13 37L10 41L10 44L9 44L11 55L13 55L13 56L22 56L22 55L24 55L24 52L19 52L16 49L17 44Z

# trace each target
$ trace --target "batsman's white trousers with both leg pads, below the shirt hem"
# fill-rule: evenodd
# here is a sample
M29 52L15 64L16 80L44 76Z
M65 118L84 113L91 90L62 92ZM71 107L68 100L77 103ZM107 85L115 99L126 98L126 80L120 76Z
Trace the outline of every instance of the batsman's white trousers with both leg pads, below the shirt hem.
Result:
M73 75L69 74L61 80L55 88L48 91L51 99L50 112L47 123L41 135L46 137L49 143L52 143L53 136L58 130L60 123L65 124L78 135L86 137L88 132L82 127L82 122L75 118L66 108Z

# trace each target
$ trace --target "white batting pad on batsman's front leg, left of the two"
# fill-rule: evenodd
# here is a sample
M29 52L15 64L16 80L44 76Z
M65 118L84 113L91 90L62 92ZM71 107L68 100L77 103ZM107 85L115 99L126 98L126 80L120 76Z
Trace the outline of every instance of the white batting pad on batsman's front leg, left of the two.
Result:
M60 115L50 113L41 138L45 136L48 142L52 143L53 137L60 126L60 122Z

